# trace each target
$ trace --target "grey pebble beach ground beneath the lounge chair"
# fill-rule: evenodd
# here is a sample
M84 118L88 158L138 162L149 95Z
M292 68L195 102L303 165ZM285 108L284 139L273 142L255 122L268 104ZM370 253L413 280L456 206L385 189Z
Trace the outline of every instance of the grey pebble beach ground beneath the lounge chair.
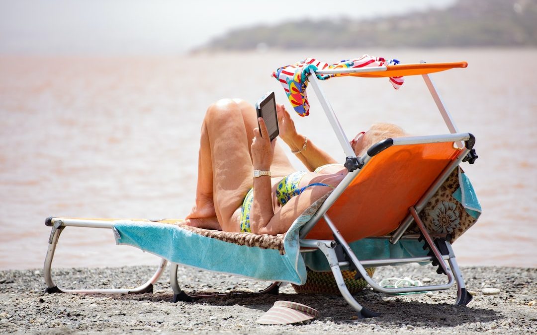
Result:
M148 279L149 266L102 269L59 269L56 283L65 288L134 287ZM537 332L537 269L462 267L474 299L454 303L455 287L445 292L388 296L366 288L355 295L380 317L357 319L338 296L296 294L291 285L279 295L215 297L172 303L168 271L153 294L43 294L42 270L0 271L0 333L412 333L473 334ZM434 276L433 276L434 274ZM410 277L440 282L431 266L378 268L373 278ZM255 291L266 282L179 267L185 291ZM136 280L138 279L138 280ZM498 292L499 291L499 292ZM306 304L320 311L313 322L300 325L260 325L255 321L277 300Z

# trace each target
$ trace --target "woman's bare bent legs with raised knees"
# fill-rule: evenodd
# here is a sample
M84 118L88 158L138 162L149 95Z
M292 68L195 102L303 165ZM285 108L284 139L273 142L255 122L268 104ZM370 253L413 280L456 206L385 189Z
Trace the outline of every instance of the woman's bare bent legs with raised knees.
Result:
M196 204L186 224L238 231L237 209L252 187L250 145L255 127L256 111L242 100L224 99L208 108L201 129ZM271 170L273 176L294 171L279 146Z

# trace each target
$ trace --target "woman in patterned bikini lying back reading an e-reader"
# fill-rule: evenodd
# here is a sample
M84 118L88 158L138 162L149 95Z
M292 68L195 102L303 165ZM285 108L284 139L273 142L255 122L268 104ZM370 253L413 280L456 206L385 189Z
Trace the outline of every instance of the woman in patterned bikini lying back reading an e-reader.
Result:
M335 188L347 170L296 132L291 116L277 105L280 138L310 172L296 171L263 119L249 103L217 101L201 126L195 206L185 224L227 232L276 235L317 199ZM351 141L358 156L372 144L404 135L392 124L376 124ZM260 175L253 177L259 170Z

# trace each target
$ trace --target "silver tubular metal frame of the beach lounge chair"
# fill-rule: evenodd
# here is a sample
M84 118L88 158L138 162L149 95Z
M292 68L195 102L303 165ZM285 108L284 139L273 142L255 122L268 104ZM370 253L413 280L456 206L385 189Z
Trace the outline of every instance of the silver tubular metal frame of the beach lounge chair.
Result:
M386 71L386 66L379 66L378 68L358 68L358 69L336 69L336 70L318 70L316 73L318 75L327 75L332 73L360 73L360 72L372 72L372 71ZM422 144L422 143L438 143L438 142L454 142L460 148L460 153L458 157L453 160L445 170L438 176L437 180L431 185L431 187L425 192L423 197L416 203L416 205L409 208L409 213L407 217L402 221L402 224L395 230L390 236L382 236L379 238L388 239L391 243L396 243L400 239L417 239L418 236L405 236L404 233L412 222L416 222L421 236L425 239L427 247L432 251L432 256L423 256L423 257L409 257L409 258L395 258L395 259L381 259L381 260L359 260L358 257L351 250L349 244L345 241L342 234L339 233L336 225L329 216L326 214L330 206L335 203L337 198L343 193L346 187L354 180L354 178L360 173L361 168L372 159L372 155L368 153L364 154L363 157L356 157L354 154L349 139L345 135L341 124L339 123L336 114L334 113L330 103L326 99L324 92L322 91L321 86L318 84L317 77L315 73L309 75L310 85L313 87L321 106L328 118L332 129L335 131L336 136L341 144L343 151L347 156L347 160L356 160L360 162L361 166L355 169L350 169L349 174L345 176L344 180L336 187L331 195L326 199L320 209L316 214L307 222L306 225L300 231L300 246L302 247L302 252L308 252L313 250L321 250L323 255L328 260L330 269L333 273L333 276L336 280L338 288L343 295L344 299L349 303L349 305L357 311L359 317L372 317L378 316L379 314L371 311L358 303L352 294L347 289L343 276L341 273L342 267L351 267L356 269L362 278L369 284L375 291L385 293L385 294L398 294L398 293L411 293L411 292L422 292L422 291L439 291L448 289L453 286L456 282L457 284L457 299L456 304L466 305L471 300L471 295L467 292L465 288L465 282L462 278L462 273L459 269L459 266L455 259L455 254L451 247L451 244L446 239L433 239L433 235L427 232L422 220L420 220L418 214L426 205L426 203L431 199L434 193L440 188L440 185L444 183L449 174L455 169L459 164L468 159L468 155L472 150L472 147L475 143L475 138L470 133L460 133L458 128L453 122L451 114L447 111L432 79L429 75L422 75L429 92L431 93L434 102L436 103L444 122L447 125L448 130L451 132L449 135L441 136L421 136L421 137L405 137L405 138L395 138L392 139L390 145L408 145L408 144ZM463 144L464 143L464 144ZM384 144L381 145L380 151L386 148ZM389 145L388 145L389 146ZM370 151L368 151L370 152ZM378 152L375 152L375 154ZM373 154L374 155L374 154ZM476 157L475 157L476 158ZM472 163L473 160L470 161ZM315 224L323 218L326 223L329 225L330 229L333 232L333 240L311 240L306 239L306 235L310 230L315 226ZM136 288L126 288L126 289L64 289L57 286L52 279L52 260L54 257L54 251L59 240L62 230L66 227L89 227L89 228L107 228L112 229L111 221L104 220L92 220L92 219L69 219L69 218L48 218L46 225L52 227L52 232L49 237L49 245L47 256L45 259L45 266L43 268L43 274L45 276L45 282L47 285L46 292L49 293L88 293L88 294L130 294L130 293L149 293L153 292L153 285L157 282L159 277L162 275L166 264L168 261L162 258L161 263L158 265L157 270L153 276L147 280L144 284ZM345 255L345 259L342 259L341 256L338 258L336 253L336 248L340 246ZM377 284L371 277L368 276L365 267L374 267L374 266L385 266L385 265L398 265L398 264L408 264L408 263L421 263L421 262L436 262L439 265L439 271L443 272L447 276L446 284L441 285L423 285L415 287L404 287L404 288L386 288ZM178 264L172 263L170 266L170 285L173 290L173 301L193 301L196 299L201 299L208 296L216 295L228 295L228 294L202 294L202 295L189 295L182 291L177 280L177 269ZM278 294L278 288L281 285L281 282L274 282L272 285L266 289L250 294ZM233 293L235 294L235 293Z

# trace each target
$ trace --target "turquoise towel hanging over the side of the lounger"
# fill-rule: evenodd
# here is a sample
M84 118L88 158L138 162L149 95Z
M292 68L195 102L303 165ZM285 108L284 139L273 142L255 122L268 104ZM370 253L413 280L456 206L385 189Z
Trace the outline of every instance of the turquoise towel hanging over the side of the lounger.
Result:
M238 245L202 236L180 225L115 221L113 230L117 244L132 245L173 263L258 280L303 285L306 282L306 264L313 270L330 270L322 255L312 253L302 258L299 242L300 228L311 219L326 197L328 195L317 200L293 222L285 234L284 254L274 249ZM402 241L393 245L379 239L351 243L361 259L421 256L425 254L422 245L417 241Z

